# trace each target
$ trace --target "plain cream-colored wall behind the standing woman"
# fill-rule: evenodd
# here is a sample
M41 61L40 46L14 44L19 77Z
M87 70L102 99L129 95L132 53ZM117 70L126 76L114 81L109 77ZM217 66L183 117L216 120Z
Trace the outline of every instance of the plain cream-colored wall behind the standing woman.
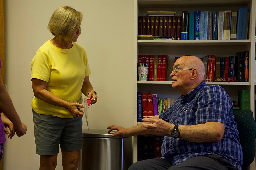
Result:
M6 87L28 131L23 137L7 139L4 170L39 169L30 106L33 97L30 62L36 50L53 37L47 30L49 18L64 5L84 15L77 42L87 51L92 71L90 81L98 93L97 104L89 109L90 128L133 125L132 0L6 0ZM57 170L62 169L60 157L59 154Z

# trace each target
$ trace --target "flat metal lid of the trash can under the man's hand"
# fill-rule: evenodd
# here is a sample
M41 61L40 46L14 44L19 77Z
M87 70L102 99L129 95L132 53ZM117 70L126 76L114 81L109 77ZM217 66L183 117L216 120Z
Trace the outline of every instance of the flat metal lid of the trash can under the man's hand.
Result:
M108 133L108 129L83 129L83 137L94 137L94 138L127 138L127 136L117 135L112 137L116 130Z

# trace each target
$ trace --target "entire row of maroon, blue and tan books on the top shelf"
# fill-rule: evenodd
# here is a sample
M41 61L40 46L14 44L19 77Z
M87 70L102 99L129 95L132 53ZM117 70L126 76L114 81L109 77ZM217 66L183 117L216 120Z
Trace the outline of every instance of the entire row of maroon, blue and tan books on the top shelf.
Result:
M248 37L249 12L182 11L181 16L139 16L138 35L172 40L242 40Z

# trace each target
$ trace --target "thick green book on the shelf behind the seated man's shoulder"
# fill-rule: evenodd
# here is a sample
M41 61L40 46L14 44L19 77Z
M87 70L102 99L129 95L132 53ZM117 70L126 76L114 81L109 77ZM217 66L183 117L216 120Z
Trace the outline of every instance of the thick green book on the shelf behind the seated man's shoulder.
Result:
M241 110L250 110L250 90L238 90L238 104Z

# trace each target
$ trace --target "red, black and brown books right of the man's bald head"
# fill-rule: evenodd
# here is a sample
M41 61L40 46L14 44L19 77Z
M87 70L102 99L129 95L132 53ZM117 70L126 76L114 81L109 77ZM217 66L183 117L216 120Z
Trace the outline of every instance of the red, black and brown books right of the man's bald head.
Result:
M234 56L207 55L204 63L205 81L249 82L249 51L239 51Z

